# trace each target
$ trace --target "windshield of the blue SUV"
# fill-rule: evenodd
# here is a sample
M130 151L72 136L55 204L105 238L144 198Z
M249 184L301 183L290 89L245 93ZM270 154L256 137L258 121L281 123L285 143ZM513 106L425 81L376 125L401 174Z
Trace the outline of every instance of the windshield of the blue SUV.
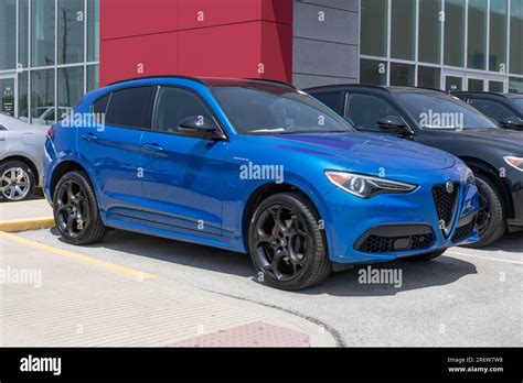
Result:
M276 86L216 87L214 96L243 134L352 132L349 122L312 97Z

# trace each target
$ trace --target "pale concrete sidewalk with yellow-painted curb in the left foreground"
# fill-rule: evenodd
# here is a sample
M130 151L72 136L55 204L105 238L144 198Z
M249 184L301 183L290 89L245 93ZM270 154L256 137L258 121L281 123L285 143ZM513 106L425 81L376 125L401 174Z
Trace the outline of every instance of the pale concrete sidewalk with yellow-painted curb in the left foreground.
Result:
M337 344L299 316L4 232L0 307L3 347Z

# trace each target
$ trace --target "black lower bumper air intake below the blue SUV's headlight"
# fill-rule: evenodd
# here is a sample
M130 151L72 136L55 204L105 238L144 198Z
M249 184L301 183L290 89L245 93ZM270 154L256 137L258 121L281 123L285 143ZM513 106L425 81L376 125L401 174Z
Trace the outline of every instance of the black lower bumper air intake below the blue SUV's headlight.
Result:
M397 249L396 241L404 240L408 243L402 249ZM408 237L383 237L383 236L369 236L365 241L360 245L360 250L364 253L392 253L395 251L407 251L407 250L420 250L429 248L434 242L434 234L416 234Z

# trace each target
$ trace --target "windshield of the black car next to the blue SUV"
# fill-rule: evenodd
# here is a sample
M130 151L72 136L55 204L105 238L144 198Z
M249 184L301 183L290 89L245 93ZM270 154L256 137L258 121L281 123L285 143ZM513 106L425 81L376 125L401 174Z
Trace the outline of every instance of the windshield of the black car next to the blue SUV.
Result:
M468 103L444 92L398 94L396 97L420 129L498 128Z

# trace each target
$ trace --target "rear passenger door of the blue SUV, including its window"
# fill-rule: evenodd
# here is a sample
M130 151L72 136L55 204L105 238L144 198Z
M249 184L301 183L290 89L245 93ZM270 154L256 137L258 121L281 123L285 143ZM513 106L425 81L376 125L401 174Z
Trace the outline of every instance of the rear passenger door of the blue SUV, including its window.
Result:
M78 152L90 166L102 214L109 220L141 218L140 140L150 128L152 96L151 86L115 90L93 107L95 113L106 111L105 125L78 130Z

